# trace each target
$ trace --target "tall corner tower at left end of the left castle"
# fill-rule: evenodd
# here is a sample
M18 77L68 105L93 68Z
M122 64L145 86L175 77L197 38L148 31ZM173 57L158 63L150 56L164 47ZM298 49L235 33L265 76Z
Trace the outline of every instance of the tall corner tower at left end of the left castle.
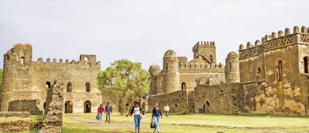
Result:
M12 100L31 99L31 65L31 44L14 44L14 47L3 55L0 111L9 111L8 104Z

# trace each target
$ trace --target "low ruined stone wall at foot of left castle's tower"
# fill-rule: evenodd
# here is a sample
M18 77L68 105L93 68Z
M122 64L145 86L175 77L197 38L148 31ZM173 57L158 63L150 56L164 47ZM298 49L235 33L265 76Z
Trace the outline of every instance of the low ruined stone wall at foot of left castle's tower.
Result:
M40 100L14 100L8 103L8 111L24 112L31 115L43 115L44 109L40 107Z

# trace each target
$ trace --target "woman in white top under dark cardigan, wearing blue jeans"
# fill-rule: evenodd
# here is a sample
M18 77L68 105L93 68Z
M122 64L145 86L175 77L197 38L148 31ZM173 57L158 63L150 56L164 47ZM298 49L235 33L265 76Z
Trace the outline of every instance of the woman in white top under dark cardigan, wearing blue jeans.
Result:
M141 124L141 111L143 109L139 106L138 101L134 102L134 106L132 107L131 111L128 112L128 114L126 115L128 117L128 115L130 114L130 116L132 116L133 112L134 112L134 122L135 122L135 133L140 133L140 124Z

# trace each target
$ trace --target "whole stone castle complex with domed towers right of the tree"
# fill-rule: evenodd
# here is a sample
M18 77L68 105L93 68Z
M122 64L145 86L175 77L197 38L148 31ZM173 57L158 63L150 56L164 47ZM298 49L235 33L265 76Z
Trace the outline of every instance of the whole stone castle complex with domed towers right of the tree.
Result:
M225 67L216 64L214 42L198 42L192 51L187 62L167 50L162 69L150 66L149 105L180 113L309 115L309 28L240 45L240 56L230 52Z

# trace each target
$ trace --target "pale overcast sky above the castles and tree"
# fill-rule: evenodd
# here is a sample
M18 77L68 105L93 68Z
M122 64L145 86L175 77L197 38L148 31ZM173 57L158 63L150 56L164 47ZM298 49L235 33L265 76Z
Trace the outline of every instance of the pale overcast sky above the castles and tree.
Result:
M119 59L162 68L168 49L193 59L197 41L215 41L217 63L240 44L295 25L309 26L309 1L0 0L0 68L14 43L39 57L97 55L101 69Z

